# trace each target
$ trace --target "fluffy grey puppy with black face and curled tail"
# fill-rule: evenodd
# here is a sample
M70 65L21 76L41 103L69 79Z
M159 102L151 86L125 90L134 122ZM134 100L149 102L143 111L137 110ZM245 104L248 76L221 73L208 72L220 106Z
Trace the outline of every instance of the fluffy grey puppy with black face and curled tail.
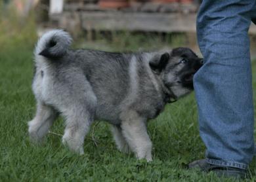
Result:
M28 129L32 141L41 141L60 113L66 118L62 142L82 155L92 122L106 120L120 151L152 160L146 122L167 102L193 90L202 59L188 48L111 53L70 50L71 43L68 33L56 29L45 33L35 48L37 111Z

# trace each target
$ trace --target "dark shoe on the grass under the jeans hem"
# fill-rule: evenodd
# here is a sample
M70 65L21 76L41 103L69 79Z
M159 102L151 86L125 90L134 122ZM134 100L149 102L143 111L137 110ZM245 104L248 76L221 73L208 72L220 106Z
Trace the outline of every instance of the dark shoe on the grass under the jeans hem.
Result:
M202 172L214 172L218 177L235 177L238 179L244 179L246 177L246 170L209 164L205 159L190 162L188 168L198 169Z

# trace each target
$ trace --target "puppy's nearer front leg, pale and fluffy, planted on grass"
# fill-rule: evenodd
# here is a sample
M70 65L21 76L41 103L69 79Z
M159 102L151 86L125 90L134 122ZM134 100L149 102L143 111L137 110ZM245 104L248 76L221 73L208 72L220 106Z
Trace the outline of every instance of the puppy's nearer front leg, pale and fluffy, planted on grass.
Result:
M140 117L135 111L125 113L122 118L121 128L129 147L137 158L152 161L152 142L146 130L146 119Z

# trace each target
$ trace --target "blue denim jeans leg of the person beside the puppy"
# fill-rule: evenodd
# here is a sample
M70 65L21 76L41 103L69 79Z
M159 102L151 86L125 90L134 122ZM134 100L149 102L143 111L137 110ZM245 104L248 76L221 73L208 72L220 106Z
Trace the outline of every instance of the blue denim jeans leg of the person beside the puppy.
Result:
M254 154L247 31L256 0L203 0L197 33L204 65L194 76L200 136L210 164L246 169Z

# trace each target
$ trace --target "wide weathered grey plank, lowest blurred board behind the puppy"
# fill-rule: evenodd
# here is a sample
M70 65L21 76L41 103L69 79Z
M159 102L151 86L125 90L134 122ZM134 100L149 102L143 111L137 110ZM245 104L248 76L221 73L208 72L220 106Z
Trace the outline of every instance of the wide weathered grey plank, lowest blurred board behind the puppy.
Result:
M196 32L196 14L81 11L64 12L58 18L54 18L54 16L52 18L58 19L59 22L72 22L74 14L77 14L77 17L81 19L81 28L85 30ZM255 25L251 25L249 33L256 34Z

